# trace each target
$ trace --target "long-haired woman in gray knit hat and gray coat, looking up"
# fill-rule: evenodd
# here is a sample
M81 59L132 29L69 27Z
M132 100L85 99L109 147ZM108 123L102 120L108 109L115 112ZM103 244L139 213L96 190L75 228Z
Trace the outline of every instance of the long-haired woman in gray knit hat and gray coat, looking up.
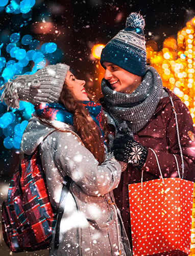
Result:
M31 155L39 146L56 211L64 177L71 179L63 202L59 246L55 248L54 230L50 255L131 255L112 193L121 167L105 156L102 106L89 100L84 84L59 63L8 82L1 99L12 108L19 106L19 100L35 105L21 151Z

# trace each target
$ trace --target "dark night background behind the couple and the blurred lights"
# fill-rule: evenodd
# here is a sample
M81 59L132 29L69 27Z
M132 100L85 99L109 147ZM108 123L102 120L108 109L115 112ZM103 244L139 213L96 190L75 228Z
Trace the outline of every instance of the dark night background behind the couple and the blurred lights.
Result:
M160 50L165 38L169 36L177 38L177 32L195 15L194 11L194 0L36 0L31 13L26 17L22 17L21 14L8 14L5 10L0 12L0 40L8 44L9 36L19 32L21 36L31 34L41 44L55 42L61 50L57 61L70 65L78 78L86 80L86 87L100 97L100 81L95 80L98 77L96 65L99 61L91 56L93 45L106 44L125 27L126 17L131 12L140 12L145 18L145 38L155 40L157 50ZM43 20L52 24L51 31L40 29ZM1 108L6 112L5 106ZM1 200L5 200L7 184L21 157L18 150L7 150L3 145L3 139L2 136L0 138ZM2 242L1 232L0 240ZM12 255L10 253L3 243L0 247L0 255ZM47 252L31 252L28 255L46 254ZM17 255L27 255L27 253Z

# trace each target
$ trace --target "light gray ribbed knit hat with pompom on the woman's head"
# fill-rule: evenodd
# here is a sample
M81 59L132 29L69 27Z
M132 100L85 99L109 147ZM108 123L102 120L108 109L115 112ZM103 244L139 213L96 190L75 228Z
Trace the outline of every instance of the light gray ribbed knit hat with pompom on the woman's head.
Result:
M69 66L58 63L46 66L32 75L20 75L10 79L0 88L1 101L8 108L19 108L19 100L33 105L58 102Z

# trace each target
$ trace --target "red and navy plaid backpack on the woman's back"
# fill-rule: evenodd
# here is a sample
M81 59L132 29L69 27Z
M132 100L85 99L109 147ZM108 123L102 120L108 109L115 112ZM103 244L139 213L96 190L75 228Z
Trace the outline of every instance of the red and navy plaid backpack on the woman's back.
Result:
M64 181L60 202L67 195L69 186L69 180L65 178ZM58 212L54 212L45 184L37 147L32 155L26 155L20 161L9 186L8 199L2 205L4 240L14 252L49 248L56 222L55 245L59 245L63 207L60 205Z

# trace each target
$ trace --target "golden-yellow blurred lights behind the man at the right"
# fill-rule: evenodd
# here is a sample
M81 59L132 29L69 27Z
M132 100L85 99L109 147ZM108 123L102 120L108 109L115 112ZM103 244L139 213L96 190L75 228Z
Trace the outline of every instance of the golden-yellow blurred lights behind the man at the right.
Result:
M147 43L147 62L158 71L163 86L172 90L186 104L193 122L195 122L194 32L195 17L178 32L177 40L173 37L165 39L161 51L154 51Z

